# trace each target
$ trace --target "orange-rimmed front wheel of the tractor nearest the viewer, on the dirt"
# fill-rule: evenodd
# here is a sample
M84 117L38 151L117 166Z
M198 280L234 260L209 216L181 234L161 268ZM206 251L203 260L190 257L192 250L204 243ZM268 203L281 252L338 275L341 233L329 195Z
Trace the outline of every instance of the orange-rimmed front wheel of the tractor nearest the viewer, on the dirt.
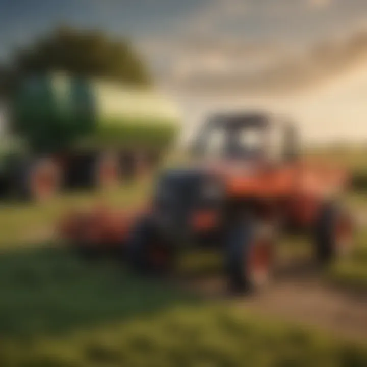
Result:
M261 238L266 242L266 251L268 253L267 265L264 266L264 282L256 279L254 267L251 266L251 259L254 250L257 251ZM240 221L232 225L225 238L226 252L226 273L228 277L229 289L232 292L258 291L264 288L272 273L274 261L274 238L266 234L261 226L252 220ZM263 245L259 245L263 246Z

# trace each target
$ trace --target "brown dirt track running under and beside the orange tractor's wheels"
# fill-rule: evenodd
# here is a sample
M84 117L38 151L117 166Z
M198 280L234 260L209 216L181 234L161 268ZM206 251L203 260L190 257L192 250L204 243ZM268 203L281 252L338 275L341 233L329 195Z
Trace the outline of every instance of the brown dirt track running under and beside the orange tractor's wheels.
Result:
M234 298L221 277L190 282L191 289L264 316L316 326L348 339L367 340L367 293L357 294L323 285L311 264L296 264L276 275L269 289Z

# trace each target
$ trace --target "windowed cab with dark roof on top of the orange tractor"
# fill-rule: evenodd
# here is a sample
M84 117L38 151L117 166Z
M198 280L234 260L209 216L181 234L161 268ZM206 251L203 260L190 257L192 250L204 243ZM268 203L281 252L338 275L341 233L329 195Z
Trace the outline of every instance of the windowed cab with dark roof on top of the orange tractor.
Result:
M292 124L266 113L216 114L194 144L201 158L284 162L297 156Z

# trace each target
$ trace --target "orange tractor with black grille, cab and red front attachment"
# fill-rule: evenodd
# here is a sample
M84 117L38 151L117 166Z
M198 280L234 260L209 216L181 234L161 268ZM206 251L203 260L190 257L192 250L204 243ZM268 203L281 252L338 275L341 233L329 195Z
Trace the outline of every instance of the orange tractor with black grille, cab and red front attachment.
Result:
M64 237L84 250L122 249L145 274L173 271L189 246L216 247L239 291L269 282L282 233L309 235L317 260L329 263L352 247L353 221L337 202L349 178L303 159L297 135L263 112L215 115L192 146L193 163L164 170L145 209L70 215Z

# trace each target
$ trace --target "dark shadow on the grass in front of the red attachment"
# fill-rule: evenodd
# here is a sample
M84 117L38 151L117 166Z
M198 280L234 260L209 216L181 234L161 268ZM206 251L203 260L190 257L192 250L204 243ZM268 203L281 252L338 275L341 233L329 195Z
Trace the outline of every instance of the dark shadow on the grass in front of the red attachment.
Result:
M134 277L106 261L87 263L66 249L0 254L0 337L60 334L184 302L195 299L162 280Z

